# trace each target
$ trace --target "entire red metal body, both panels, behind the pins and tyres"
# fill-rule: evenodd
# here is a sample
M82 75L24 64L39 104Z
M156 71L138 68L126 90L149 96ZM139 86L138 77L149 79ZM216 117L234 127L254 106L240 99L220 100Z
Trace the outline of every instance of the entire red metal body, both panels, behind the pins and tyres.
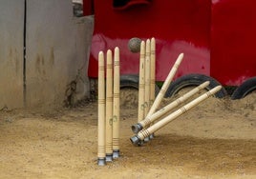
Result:
M97 77L98 51L115 47L121 74L138 74L139 53L127 47L133 37L156 38L157 81L181 52L176 79L200 73L240 86L256 76L255 0L95 0L94 14L89 77Z

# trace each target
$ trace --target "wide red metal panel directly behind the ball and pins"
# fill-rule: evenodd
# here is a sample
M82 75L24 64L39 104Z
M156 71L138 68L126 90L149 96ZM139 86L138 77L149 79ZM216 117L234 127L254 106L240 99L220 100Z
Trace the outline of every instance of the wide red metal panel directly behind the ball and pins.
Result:
M122 74L139 72L139 54L128 50L132 37L156 38L157 80L164 80L181 52L185 57L177 76L199 72L209 74L209 0L152 0L124 10L112 0L95 0L95 32L88 74L96 77L99 50L120 48Z

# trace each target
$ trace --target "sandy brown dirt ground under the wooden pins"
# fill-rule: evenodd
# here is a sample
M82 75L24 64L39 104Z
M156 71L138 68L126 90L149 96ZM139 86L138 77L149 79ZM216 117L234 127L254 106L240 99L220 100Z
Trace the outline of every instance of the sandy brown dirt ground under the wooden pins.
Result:
M130 142L137 97L121 93L121 156L104 167L96 163L96 102L2 109L0 178L256 178L256 93L207 99L141 147Z

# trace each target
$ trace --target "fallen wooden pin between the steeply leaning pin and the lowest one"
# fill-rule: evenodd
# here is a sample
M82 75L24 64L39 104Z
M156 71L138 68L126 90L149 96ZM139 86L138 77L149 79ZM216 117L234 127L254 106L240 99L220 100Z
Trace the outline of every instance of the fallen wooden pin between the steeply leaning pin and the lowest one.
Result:
M199 92L201 89L204 89L210 84L209 81L204 82L202 85L198 86L195 89L190 90L189 92L182 95L177 100L173 101L169 105L163 107L162 109L158 110L157 112L153 113L150 116L147 116L144 120L140 121L138 124L132 126L132 130L134 133L138 133L139 130L145 128L146 126L150 125L152 122L156 121L157 119L160 119L162 115L170 111L171 109L174 109L175 107L181 105L185 100L192 97L194 94Z

